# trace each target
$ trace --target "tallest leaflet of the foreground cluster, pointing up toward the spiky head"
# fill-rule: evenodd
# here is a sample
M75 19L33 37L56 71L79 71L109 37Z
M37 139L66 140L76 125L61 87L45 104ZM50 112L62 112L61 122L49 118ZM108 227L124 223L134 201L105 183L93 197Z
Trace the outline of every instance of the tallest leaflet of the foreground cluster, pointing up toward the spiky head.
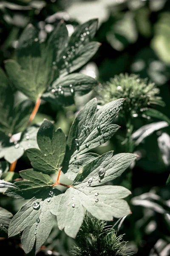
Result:
M67 140L67 151L63 163L62 171L66 177L74 179L81 166L81 155L92 148L96 148L108 141L119 129L119 125L113 125L112 122L119 112L124 99L118 99L102 106L97 111L96 99L88 102L82 111L79 112L74 120ZM79 162L77 157L79 156ZM75 168L70 165L75 164Z

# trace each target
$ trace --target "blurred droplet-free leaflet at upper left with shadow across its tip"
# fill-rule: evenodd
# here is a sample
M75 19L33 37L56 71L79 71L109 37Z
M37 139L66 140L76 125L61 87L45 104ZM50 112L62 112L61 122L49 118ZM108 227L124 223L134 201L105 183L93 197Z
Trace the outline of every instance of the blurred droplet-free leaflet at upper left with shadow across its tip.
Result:
M31 24L24 29L17 47L17 61L6 61L8 76L15 87L36 102L51 79L54 50L40 44L38 31Z

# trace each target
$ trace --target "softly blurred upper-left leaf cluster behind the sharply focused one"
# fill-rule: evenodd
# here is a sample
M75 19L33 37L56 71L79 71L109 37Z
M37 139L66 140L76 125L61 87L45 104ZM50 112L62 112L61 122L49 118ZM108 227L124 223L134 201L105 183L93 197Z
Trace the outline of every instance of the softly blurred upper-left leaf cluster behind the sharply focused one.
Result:
M44 99L54 104L71 105L75 95L84 95L98 84L84 74L68 75L96 53L99 43L91 42L96 29L97 20L90 20L78 26L69 38L65 23L61 22L45 42L40 42L38 31L31 24L23 31L16 60L5 63L10 80L0 70L1 158L13 163L27 148L37 147L38 127L27 128L32 102ZM29 99L18 102L13 85ZM14 134L21 132L15 138Z

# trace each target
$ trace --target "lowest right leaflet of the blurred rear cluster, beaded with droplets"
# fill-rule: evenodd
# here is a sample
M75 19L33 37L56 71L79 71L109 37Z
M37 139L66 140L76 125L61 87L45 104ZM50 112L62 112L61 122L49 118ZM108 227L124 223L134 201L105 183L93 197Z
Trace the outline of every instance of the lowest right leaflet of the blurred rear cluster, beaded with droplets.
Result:
M89 93L97 84L98 82L91 76L73 73L54 81L52 90L44 93L42 99L54 104L70 105L74 95L82 96Z

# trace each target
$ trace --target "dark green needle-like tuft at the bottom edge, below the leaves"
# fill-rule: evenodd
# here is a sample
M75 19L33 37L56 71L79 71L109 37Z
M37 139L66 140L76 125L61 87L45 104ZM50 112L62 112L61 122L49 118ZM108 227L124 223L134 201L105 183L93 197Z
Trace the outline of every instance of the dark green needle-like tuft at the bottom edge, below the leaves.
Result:
M75 256L130 256L126 253L126 242L123 236L117 236L112 227L86 213L82 227L77 234L77 245L74 246Z

